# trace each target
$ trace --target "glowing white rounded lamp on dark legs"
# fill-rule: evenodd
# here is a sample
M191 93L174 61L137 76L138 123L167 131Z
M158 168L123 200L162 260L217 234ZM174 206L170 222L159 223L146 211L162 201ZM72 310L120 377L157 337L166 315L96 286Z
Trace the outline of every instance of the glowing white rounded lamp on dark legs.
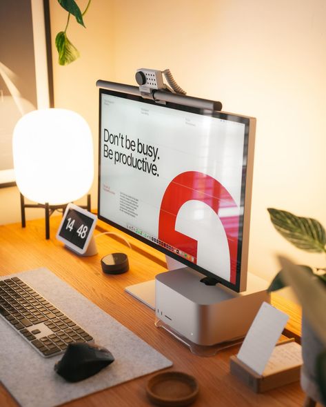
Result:
M94 178L92 133L76 112L34 110L19 119L12 138L14 172L21 192L21 223L25 208L45 208L49 217L58 208L87 194ZM24 197L37 202L25 204ZM88 196L90 210L90 196Z

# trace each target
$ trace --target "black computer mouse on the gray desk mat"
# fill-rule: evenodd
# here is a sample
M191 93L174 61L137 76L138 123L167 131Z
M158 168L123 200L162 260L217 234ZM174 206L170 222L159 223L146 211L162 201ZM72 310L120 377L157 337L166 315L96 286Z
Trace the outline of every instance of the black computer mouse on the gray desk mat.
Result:
M54 366L58 375L67 381L80 381L95 375L112 364L112 353L94 344L69 344L62 359Z

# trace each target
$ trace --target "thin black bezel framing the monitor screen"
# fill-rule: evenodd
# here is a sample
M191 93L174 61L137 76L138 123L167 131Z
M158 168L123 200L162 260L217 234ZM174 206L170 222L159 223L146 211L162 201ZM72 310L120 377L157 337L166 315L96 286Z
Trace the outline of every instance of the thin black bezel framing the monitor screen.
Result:
M130 99L133 101L137 101L140 103L144 104L151 104L155 106L161 106L163 108L171 108L174 110L182 110L185 112L191 112L195 113L197 115L205 115L209 117L216 117L217 119L225 119L225 120L231 120L231 121L237 121L240 123L245 124L245 140L244 140L244 146L243 146L243 175L242 175L242 180L241 180L241 208L243 208L243 213L239 215L240 221L239 221L239 232L238 232L238 252L237 252L237 259L236 259L236 283L232 284L230 281L227 281L223 279L222 277L218 277L217 275L214 275L214 273L205 270L204 268L201 268L201 266L198 266L197 264L192 263L191 261L187 261L183 257L174 254L173 252L170 252L170 250L166 250L164 247L159 246L158 244L155 244L154 242L145 239L144 237L141 237L140 235L132 232L131 230L128 230L127 228L124 228L123 226L116 224L114 221L111 221L110 219L107 219L101 215L101 97L102 95L112 95L115 97L121 97L123 99ZM247 184L247 179L245 177L247 173L247 157L248 157L248 146L249 146L249 123L250 123L250 118L243 116L243 115L234 115L232 113L228 112L219 112L216 110L203 110L201 108L194 108L190 106L184 106L176 103L171 103L171 102L165 102L164 104L158 104L156 101L151 100L151 99L143 99L143 97L139 97L136 95L131 95L125 92L116 92L115 90L108 90L108 89L103 89L99 88L99 171L98 171L98 218L101 219L101 221L104 221L106 224L109 224L111 226L114 226L114 228L117 228L121 230L122 232L127 233L128 235L138 239L139 241L142 241L143 243L147 244L148 246L159 250L160 252L163 252L165 255L172 257L173 259L176 259L180 261L182 264L185 265L185 267L190 267L193 268L194 270L200 272L203 274L203 276L206 277L212 277L216 279L219 283L223 284L224 286L236 291L240 292L241 291L241 273L247 273L247 264L245 265L245 270L243 270L242 267L242 257L243 257L243 226L244 224L244 218L245 218L245 193L247 189L250 189L251 191L251 186L250 188L246 188ZM248 233L249 235L249 233Z

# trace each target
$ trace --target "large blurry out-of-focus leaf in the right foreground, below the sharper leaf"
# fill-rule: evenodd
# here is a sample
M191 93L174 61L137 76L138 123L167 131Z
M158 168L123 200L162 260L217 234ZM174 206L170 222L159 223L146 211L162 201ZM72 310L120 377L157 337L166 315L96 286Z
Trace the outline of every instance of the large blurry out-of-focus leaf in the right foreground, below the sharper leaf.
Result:
M282 266L282 275L292 286L303 312L316 335L326 346L326 288L314 274L306 268L296 266L285 257L278 257Z

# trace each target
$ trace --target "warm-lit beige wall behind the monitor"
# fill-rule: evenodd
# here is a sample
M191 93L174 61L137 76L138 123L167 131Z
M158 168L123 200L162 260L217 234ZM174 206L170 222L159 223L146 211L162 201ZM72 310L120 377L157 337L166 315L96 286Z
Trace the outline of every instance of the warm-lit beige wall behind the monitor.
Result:
M57 0L50 6L54 38L66 17ZM95 81L135 84L136 68L170 68L188 95L256 117L249 268L270 279L276 252L325 265L321 255L280 237L266 210L283 208L326 226L325 21L325 0L93 0L87 29L71 21L68 30L81 58L65 67L54 62L55 104L88 120L95 151ZM96 199L96 183L92 194Z

